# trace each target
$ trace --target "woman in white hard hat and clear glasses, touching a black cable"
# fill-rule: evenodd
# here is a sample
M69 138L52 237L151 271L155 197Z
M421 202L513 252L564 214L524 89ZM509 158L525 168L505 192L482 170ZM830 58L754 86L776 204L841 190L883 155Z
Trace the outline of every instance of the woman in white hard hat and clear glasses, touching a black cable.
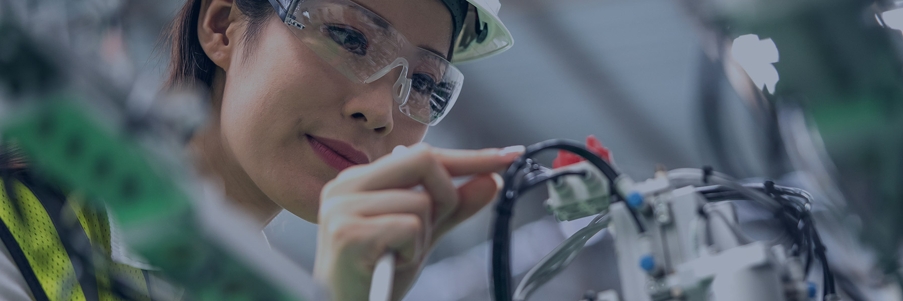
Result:
M433 243L489 203L493 171L523 151L418 143L460 92L449 61L511 44L498 3L470 3L189 0L173 23L170 85L211 95L189 143L197 168L261 229L282 209L319 223L313 274L334 300L366 299L386 252L397 255L394 298L404 296ZM461 176L472 178L452 185ZM41 277L16 280L53 295Z

